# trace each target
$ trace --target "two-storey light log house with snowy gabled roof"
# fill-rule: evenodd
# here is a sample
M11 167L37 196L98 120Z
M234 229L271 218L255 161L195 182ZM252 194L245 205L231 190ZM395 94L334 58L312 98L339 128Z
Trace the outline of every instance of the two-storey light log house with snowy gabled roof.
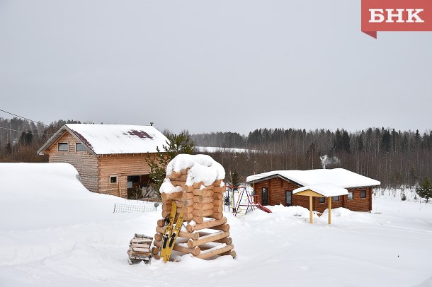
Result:
M50 163L74 165L91 192L127 198L149 192L147 159L167 141L152 126L64 124L38 154L47 154Z

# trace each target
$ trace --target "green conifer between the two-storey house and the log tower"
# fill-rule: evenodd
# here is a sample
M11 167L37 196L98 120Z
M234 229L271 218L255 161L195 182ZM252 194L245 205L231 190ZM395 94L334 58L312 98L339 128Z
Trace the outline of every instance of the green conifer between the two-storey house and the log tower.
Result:
M160 198L159 188L166 177L166 166L169 162L181 153L193 153L194 144L187 131L181 134L166 134L166 145L163 145L163 151L157 148L156 156L149 157L147 164L150 167L150 185L154 188L155 193Z

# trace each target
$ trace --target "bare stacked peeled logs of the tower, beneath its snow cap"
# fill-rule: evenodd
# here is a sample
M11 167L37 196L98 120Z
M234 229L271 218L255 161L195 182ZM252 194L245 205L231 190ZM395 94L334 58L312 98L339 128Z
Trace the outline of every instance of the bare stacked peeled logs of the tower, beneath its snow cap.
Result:
M171 204L176 201L177 214L183 210L183 226L173 250L183 254L193 254L201 259L209 259L220 255L236 256L229 237L229 224L223 216L222 180L215 180L212 185L205 186L203 182L186 185L188 168L181 172L171 172L166 178L176 187L178 192L162 193L162 219L157 222L156 235L152 253L159 258L162 235L164 233L164 218L171 213ZM181 189L179 188L181 187ZM180 191L181 190L181 191Z

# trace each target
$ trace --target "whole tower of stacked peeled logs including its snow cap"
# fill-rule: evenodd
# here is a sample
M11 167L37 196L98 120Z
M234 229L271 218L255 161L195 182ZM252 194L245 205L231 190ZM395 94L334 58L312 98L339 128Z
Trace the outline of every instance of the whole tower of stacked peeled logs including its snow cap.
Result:
M187 165L181 164L185 162L185 158L189 159L186 160ZM154 235L154 257L159 259L164 218L171 213L173 201L177 205L174 223L183 211L183 226L173 249L178 255L192 254L200 259L214 259L222 255L235 257L232 238L229 237L229 224L222 213L225 191L222 165L204 155L179 155L174 158L174 163L175 160L180 163L180 169L175 164L171 165L171 162L161 186L162 218L157 221L157 233ZM209 178L205 171L204 176L200 174L203 166L210 171L212 168L222 168L223 172L216 172L215 177Z

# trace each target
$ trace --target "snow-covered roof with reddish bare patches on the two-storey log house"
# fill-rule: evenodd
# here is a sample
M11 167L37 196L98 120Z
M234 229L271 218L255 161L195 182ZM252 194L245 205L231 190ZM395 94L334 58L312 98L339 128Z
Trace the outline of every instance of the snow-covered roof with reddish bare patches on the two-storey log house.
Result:
M155 153L163 150L166 136L152 126L127 124L65 124L69 131L98 155Z

